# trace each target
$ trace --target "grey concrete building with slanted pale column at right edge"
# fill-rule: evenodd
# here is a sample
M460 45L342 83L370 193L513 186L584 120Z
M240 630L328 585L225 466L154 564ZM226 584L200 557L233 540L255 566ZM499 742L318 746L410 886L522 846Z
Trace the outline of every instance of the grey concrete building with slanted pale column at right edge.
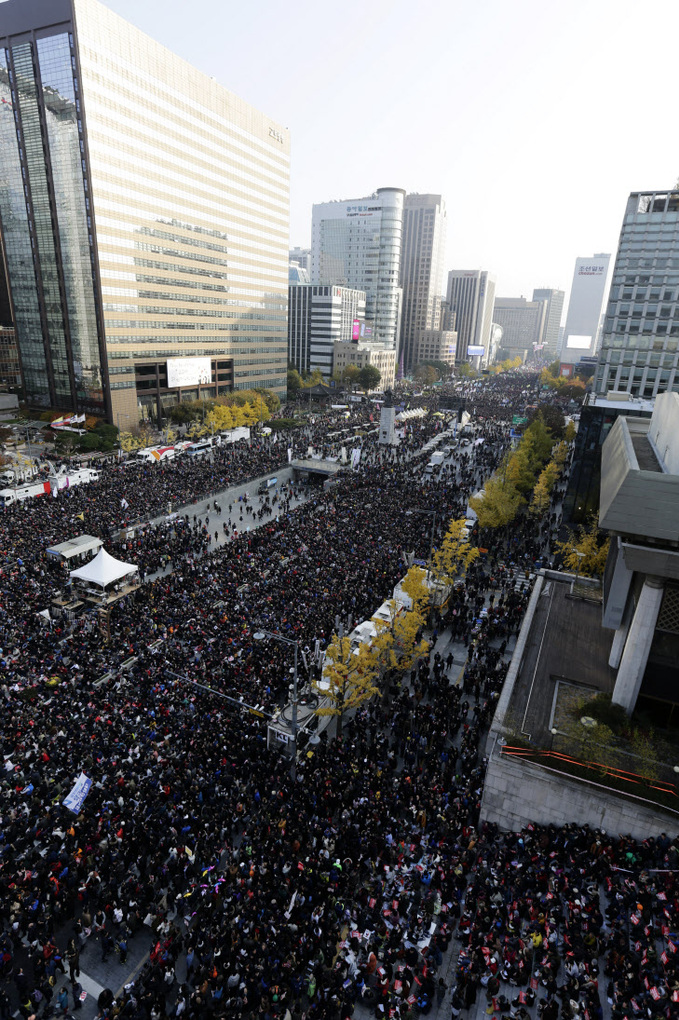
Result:
M650 418L619 417L602 453L599 525L611 532L604 626L613 701L679 720L679 394Z

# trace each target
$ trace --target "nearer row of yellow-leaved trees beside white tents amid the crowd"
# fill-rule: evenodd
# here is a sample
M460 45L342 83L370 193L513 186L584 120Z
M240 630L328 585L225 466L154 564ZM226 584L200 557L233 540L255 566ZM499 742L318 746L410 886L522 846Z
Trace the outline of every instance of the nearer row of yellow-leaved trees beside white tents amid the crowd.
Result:
M380 694L385 672L404 672L428 655L429 643L422 631L433 593L450 591L478 555L478 549L467 541L464 519L452 520L428 569L412 566L402 581L410 609L389 599L384 604L387 619L373 619L376 634L369 644L357 643L349 634L333 634L325 652L322 679L316 684L318 695L326 701L317 714L336 719L338 736L345 714Z

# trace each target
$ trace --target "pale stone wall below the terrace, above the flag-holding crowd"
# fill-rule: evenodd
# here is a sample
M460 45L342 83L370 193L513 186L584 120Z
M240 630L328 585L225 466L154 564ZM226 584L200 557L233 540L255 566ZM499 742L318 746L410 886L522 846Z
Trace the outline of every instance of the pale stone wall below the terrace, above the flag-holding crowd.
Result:
M511 831L528 822L586 823L635 839L679 832L679 812L619 796L597 783L566 778L533 762L505 758L497 750L488 759L481 820Z

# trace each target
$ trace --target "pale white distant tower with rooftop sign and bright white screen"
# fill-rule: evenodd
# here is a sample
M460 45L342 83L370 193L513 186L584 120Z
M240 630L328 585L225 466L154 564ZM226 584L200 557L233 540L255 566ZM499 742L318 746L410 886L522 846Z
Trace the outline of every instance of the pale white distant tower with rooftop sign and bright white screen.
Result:
M559 353L564 364L576 365L581 358L592 358L596 353L610 262L611 256L606 253L575 260L564 340Z

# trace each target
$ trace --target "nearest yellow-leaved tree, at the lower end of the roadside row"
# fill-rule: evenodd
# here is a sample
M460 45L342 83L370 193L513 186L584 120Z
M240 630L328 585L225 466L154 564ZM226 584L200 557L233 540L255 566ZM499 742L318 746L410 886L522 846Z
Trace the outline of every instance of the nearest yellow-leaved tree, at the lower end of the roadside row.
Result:
M314 687L319 697L329 701L329 705L316 709L316 715L333 716L337 720L337 736L342 736L345 713L379 694L380 665L378 650L372 646L355 645L350 634L332 635L321 679Z

